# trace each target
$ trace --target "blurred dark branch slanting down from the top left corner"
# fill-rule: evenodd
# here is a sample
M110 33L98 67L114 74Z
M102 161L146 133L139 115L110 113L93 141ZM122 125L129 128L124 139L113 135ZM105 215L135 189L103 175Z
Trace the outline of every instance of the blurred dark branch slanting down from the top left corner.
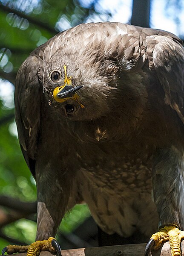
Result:
M43 23L42 21L38 21L35 18L30 17L29 15L24 14L23 12L17 11L15 9L10 8L9 6L5 6L3 5L3 3L0 1L0 10L3 10L4 12L12 12L18 16L20 16L21 18L24 18L26 20L28 20L30 23L35 24L36 26L39 26L43 29L46 29L47 31L49 31L52 35L55 35L56 33L58 33L57 30L53 29L51 26L49 26L48 24Z

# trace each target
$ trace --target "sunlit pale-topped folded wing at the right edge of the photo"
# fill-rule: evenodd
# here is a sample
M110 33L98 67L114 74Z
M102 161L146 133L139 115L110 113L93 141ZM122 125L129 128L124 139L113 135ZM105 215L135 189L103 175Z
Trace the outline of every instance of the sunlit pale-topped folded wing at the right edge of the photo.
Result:
M184 124L184 47L174 35L157 36L153 64L164 89L165 103L174 109Z

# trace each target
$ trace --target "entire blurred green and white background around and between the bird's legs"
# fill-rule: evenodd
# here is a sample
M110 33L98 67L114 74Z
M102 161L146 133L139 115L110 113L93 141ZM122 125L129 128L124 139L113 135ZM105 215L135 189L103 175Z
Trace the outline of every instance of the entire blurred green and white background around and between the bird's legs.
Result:
M56 33L83 22L119 21L164 29L184 39L184 0L0 0L0 249L36 234L36 186L20 151L14 81L21 63ZM98 245L88 207L67 213L62 248Z

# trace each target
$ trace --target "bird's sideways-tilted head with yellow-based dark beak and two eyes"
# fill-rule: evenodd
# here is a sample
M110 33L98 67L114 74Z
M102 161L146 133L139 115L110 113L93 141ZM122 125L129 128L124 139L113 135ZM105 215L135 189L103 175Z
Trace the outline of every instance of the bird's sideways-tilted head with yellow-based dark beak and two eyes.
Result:
M46 63L43 91L58 115L80 121L94 120L112 112L115 107L112 91L116 91L112 77L117 67L112 61L92 63L92 59L72 61L56 55Z

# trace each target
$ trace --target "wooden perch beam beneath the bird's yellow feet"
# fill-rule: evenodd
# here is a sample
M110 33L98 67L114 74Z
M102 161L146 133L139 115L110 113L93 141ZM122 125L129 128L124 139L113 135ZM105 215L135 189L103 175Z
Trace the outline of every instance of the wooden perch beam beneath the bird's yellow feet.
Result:
M61 250L61 253L62 256L144 256L145 246L146 244L126 244L106 247ZM181 247L182 252L184 252L184 241L182 242ZM161 254L160 251L155 251L154 253L150 254L150 256L159 255L171 256L169 242L163 245ZM26 253L21 253L20 256L26 256ZM49 252L41 252L40 256L52 256L52 254Z

